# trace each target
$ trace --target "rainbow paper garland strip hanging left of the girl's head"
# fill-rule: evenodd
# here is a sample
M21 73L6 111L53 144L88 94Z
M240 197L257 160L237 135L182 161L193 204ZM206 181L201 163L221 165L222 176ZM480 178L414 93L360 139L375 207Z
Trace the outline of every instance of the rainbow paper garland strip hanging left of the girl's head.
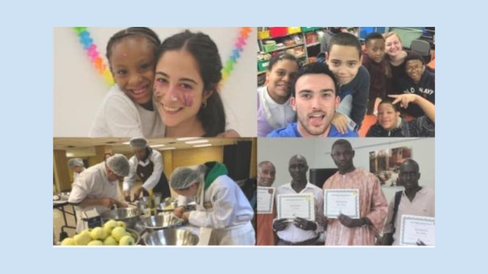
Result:
M95 70L103 76L105 81L110 86L113 86L115 81L113 80L108 66L104 62L103 57L100 56L99 52L97 51L97 45L93 43L93 39L90 37L90 32L86 30L86 27L73 27L73 29L76 31L79 41L81 45L83 45L83 49L86 50L86 54L93 63Z

